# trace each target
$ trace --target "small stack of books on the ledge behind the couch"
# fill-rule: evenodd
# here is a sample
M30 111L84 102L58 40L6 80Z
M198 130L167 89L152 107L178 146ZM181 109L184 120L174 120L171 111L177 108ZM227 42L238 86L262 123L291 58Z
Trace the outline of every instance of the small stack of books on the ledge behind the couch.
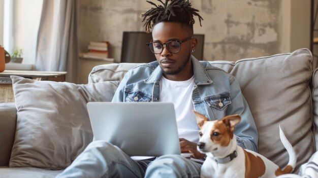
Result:
M82 57L92 58L92 59L101 59L105 61L114 61L112 58L108 58L108 46L109 42L89 42L88 52L83 53Z

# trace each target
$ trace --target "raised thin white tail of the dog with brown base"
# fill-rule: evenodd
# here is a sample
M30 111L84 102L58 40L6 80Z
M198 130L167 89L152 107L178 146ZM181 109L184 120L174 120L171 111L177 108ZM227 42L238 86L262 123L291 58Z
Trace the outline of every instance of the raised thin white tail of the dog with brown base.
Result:
M295 152L292 144L288 141L284 132L280 128L280 125L279 125L279 137L280 137L282 145L285 147L285 149L287 150L288 155L289 155L288 165L284 168L283 172L284 173L291 173L296 167L296 162L297 162L296 152Z

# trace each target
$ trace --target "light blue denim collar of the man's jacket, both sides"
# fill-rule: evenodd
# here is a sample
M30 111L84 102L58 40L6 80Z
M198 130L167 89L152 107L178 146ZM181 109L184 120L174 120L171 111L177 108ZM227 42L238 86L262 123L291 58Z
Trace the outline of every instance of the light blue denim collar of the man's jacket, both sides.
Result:
M191 61L193 64L195 83L197 85L211 84L212 80L207 75L206 70L205 70L205 66L203 66L203 64L198 59L196 59L194 56L191 56ZM161 78L163 76L163 71L162 71L160 65L158 64L158 62L156 61L154 64L157 66L153 70L151 75L146 80L144 80L145 83L158 82L161 80ZM210 64L208 64L208 62L206 62L206 65L210 65Z

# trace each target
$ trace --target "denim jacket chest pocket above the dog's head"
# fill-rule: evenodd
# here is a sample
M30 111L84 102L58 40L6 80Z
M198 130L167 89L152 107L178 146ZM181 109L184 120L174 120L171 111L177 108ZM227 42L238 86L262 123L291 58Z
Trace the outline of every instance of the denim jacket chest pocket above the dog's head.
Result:
M217 110L223 110L231 104L230 93L222 93L204 98L208 105Z

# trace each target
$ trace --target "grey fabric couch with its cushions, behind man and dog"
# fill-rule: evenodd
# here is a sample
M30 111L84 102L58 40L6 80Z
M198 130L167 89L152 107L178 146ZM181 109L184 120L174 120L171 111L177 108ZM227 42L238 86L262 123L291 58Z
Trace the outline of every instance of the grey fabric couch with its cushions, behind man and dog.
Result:
M259 153L280 167L287 164L280 124L297 153L295 171L315 152L318 139L318 74L311 63L308 49L211 61L237 78L259 131ZM54 177L61 172L91 141L86 102L110 101L124 74L137 65L96 66L87 85L13 77L16 103L0 103L0 177Z

